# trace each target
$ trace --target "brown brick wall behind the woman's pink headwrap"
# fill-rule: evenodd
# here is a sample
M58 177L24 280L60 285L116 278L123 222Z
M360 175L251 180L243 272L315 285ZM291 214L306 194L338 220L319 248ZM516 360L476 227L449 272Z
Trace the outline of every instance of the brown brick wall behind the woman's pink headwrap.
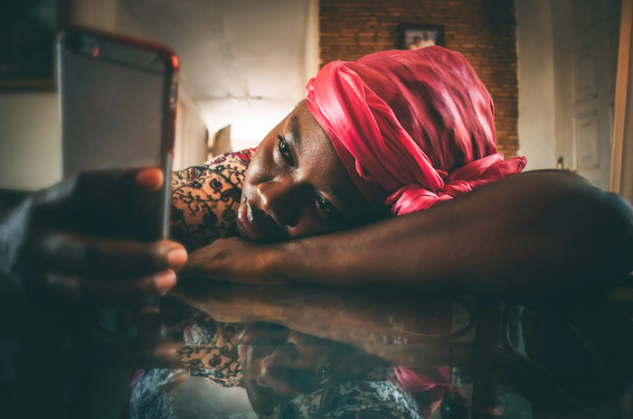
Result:
M516 155L518 87L512 0L321 0L321 63L354 61L398 45L398 23L442 24L445 47L464 54L496 106L499 153Z

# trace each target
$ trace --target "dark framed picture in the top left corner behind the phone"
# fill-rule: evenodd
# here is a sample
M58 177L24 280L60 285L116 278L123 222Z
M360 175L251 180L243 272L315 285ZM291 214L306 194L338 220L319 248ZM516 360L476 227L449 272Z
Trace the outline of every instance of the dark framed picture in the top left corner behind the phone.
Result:
M55 37L70 0L0 1L0 91L52 91Z

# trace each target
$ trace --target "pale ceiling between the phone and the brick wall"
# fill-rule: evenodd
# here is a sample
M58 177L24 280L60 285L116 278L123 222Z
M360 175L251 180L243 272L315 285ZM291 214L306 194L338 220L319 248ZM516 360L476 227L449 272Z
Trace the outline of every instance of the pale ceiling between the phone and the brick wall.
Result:
M122 0L181 62L196 101L296 100L305 85L309 0Z

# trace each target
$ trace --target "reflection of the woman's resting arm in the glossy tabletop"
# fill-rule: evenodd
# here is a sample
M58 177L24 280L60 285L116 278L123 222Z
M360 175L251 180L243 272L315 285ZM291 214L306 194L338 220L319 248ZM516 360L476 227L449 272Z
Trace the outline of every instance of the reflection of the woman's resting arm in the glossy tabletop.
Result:
M404 293L185 282L170 295L219 321L275 323L369 352L376 345L427 342L451 328L450 300Z

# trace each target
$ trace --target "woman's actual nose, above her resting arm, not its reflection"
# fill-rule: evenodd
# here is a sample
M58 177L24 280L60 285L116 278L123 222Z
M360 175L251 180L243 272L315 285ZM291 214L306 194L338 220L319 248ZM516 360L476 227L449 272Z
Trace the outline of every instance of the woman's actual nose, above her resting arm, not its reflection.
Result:
M261 182L257 186L261 209L279 226L295 227L298 219L297 186L288 179Z

